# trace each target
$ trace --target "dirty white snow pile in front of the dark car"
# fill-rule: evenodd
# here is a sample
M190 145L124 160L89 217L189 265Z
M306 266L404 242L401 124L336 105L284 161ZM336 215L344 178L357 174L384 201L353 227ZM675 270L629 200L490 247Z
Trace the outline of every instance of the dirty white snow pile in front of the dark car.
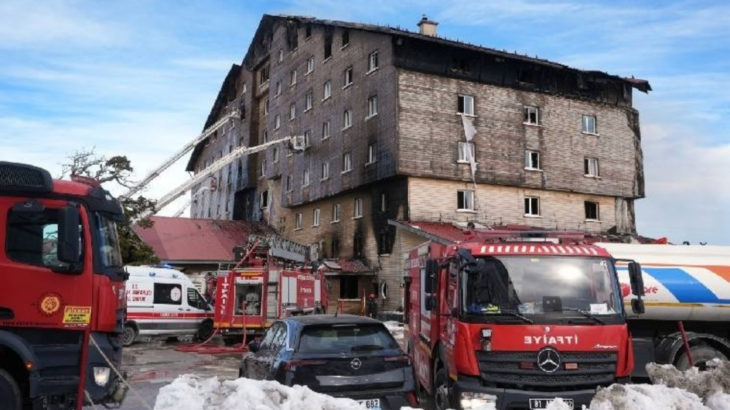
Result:
M155 410L365 410L351 399L315 393L275 381L183 375L160 389Z

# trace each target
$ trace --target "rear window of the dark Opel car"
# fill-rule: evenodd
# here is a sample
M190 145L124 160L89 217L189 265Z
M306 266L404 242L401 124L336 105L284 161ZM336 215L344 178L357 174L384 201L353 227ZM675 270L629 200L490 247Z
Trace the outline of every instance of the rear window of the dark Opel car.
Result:
M393 336L379 324L307 326L299 341L299 351L303 353L350 353L397 348Z

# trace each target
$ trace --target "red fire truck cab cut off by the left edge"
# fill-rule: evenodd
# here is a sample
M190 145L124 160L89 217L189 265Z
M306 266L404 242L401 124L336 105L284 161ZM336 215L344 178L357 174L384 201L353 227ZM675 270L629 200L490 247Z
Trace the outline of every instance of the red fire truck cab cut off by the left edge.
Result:
M0 162L0 407L120 403L122 208L95 181ZM97 348L98 347L98 348Z

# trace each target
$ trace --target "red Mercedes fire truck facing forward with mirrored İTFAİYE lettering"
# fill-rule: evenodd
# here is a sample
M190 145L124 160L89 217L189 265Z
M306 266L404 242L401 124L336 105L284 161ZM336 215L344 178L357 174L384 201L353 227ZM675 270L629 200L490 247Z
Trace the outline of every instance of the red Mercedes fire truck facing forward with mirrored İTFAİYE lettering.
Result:
M633 350L621 288L604 249L581 235L423 244L408 255L406 344L436 408L580 408L628 380ZM539 241L539 242L537 242ZM638 263L632 308L643 311Z

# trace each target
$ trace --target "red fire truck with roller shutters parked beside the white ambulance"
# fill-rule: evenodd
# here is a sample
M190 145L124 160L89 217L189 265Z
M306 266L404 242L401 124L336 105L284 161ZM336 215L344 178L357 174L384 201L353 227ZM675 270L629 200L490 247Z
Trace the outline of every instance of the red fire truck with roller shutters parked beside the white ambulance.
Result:
M324 283L306 265L305 253L280 246L301 245L282 239L251 240L248 252L237 255L238 266L219 272L216 279L214 326L226 344L240 343L244 329L259 335L276 319L324 312L327 300Z

